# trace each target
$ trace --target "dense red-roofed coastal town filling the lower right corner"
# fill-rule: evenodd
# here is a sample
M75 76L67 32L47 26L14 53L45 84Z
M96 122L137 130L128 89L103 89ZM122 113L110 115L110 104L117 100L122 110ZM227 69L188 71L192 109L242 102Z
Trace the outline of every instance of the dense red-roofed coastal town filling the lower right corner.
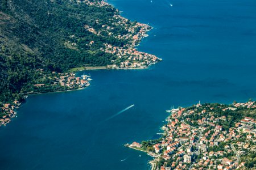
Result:
M127 147L154 157L152 169L255 169L256 104L171 109L159 139Z

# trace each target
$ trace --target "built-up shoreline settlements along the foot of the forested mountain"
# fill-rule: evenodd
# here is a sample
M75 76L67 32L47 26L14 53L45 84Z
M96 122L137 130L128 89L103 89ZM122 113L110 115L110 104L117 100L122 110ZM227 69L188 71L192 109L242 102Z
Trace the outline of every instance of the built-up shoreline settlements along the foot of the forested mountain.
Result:
M77 1L77 4L85 3L88 6L94 6L98 8L111 8L115 9L112 5L105 1ZM154 54L149 54L145 52L140 52L135 48L139 45L139 42L144 37L147 37L147 32L152 29L150 25L143 24L139 22L131 22L129 19L124 18L120 15L117 9L115 13L108 20L96 19L94 26L84 25L84 29L95 36L108 37L113 40L120 40L125 44L110 44L104 43L103 47L98 48L101 52L110 54L114 56L115 59L110 61L111 64L100 66L104 69L146 69L148 66L153 65L157 62L162 61L161 58L156 57ZM64 43L67 48L77 50L75 35L70 36L70 41ZM88 46L91 47L98 42L93 39L89 40ZM95 67L97 66L90 66ZM71 68L73 71L86 70L86 66ZM46 92L56 92L56 91L68 91L77 90L90 85L90 76L84 75L82 78L76 77L75 73L69 73L65 71L63 73L57 73L56 71L50 71L49 69L36 69L34 71L34 78L31 82L24 83L23 87L20 89L19 94L13 99L0 103L2 108L0 109L0 126L6 125L11 121L12 117L16 116L14 109L18 108L20 103L24 101L27 95L30 94L40 94Z

